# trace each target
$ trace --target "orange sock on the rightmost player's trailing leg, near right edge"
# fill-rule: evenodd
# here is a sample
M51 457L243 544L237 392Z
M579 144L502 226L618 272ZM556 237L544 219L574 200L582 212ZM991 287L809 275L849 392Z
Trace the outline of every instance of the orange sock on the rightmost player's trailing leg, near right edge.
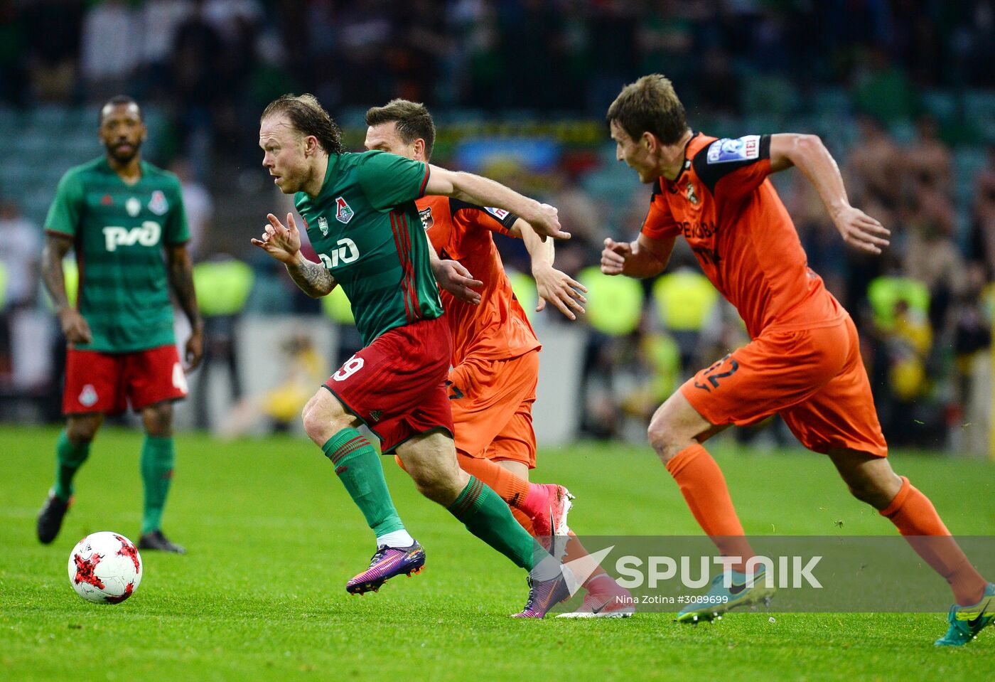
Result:
M901 489L881 515L888 517L915 553L950 583L958 604L967 606L978 602L984 594L985 579L950 537L929 498L904 476L901 477Z

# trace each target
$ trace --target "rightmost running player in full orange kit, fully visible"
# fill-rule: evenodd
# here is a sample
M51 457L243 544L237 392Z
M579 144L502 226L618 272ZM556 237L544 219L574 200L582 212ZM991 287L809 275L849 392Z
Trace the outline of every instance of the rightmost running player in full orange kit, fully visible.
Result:
M605 240L602 271L653 277L667 267L677 237L684 235L752 339L697 372L650 423L650 443L698 524L722 555L738 558L731 587L717 576L708 596L678 619L695 622L766 596L761 583L750 584L743 572L752 551L722 472L701 443L730 424L751 424L777 412L803 445L829 455L854 496L890 519L950 583L957 603L949 630L936 644L970 641L995 618L989 612L995 584L971 566L932 503L892 470L857 329L808 268L794 224L767 176L798 166L851 246L880 254L889 231L850 205L836 161L817 136L716 139L692 132L671 82L659 74L626 86L607 120L618 159L640 181L652 183L653 198L636 241Z

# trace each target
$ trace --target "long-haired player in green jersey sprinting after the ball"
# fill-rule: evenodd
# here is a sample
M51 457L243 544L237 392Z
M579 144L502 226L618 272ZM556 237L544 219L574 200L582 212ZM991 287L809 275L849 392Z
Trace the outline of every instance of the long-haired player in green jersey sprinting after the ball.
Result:
M253 244L283 262L308 296L341 285L364 342L303 409L307 435L376 534L369 568L346 589L378 589L425 563L394 508L376 451L357 430L362 423L381 440L383 454L397 454L423 495L529 571L528 600L515 615L541 618L569 595L572 576L533 542L491 488L457 463L446 390L452 341L415 199L436 194L497 206L525 218L543 238L568 237L556 209L477 175L382 151L347 153L338 127L309 95L271 103L259 141L274 182L296 195L321 263L300 254L293 214L286 226L271 214Z

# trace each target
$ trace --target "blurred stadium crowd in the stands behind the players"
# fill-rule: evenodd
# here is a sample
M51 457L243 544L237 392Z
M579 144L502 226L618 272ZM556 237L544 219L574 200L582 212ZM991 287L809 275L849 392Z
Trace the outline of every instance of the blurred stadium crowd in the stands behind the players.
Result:
M991 0L0 0L0 417L27 398L56 416L58 350L38 363L37 348L20 360L17 348L53 324L37 273L55 185L100 154L96 106L118 93L146 110L146 158L183 180L202 281L230 285L201 297L210 364L228 365L233 396L238 316L326 315L248 243L261 216L287 205L259 169L259 113L309 91L353 149L367 107L424 102L440 127L434 161L559 207L574 239L557 267L592 290L582 428L642 439L685 376L745 341L687 249L642 285L593 269L605 236L638 230L650 195L615 162L604 112L622 85L661 72L708 134L822 135L853 203L893 231L892 248L849 252L800 173L775 184L811 266L858 322L886 435L987 453L993 62ZM528 272L520 245L499 246ZM221 263L236 267L219 275ZM521 282L521 298L534 297ZM299 339L287 347L313 352ZM790 438L776 424L763 437Z

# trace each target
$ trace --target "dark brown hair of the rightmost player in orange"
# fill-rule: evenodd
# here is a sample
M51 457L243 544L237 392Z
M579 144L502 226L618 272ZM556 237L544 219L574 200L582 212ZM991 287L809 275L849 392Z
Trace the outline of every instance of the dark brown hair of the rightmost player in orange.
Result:
M617 120L633 139L652 132L663 144L676 144L688 130L684 105L674 84L660 74L644 76L622 89L605 116L608 125Z

